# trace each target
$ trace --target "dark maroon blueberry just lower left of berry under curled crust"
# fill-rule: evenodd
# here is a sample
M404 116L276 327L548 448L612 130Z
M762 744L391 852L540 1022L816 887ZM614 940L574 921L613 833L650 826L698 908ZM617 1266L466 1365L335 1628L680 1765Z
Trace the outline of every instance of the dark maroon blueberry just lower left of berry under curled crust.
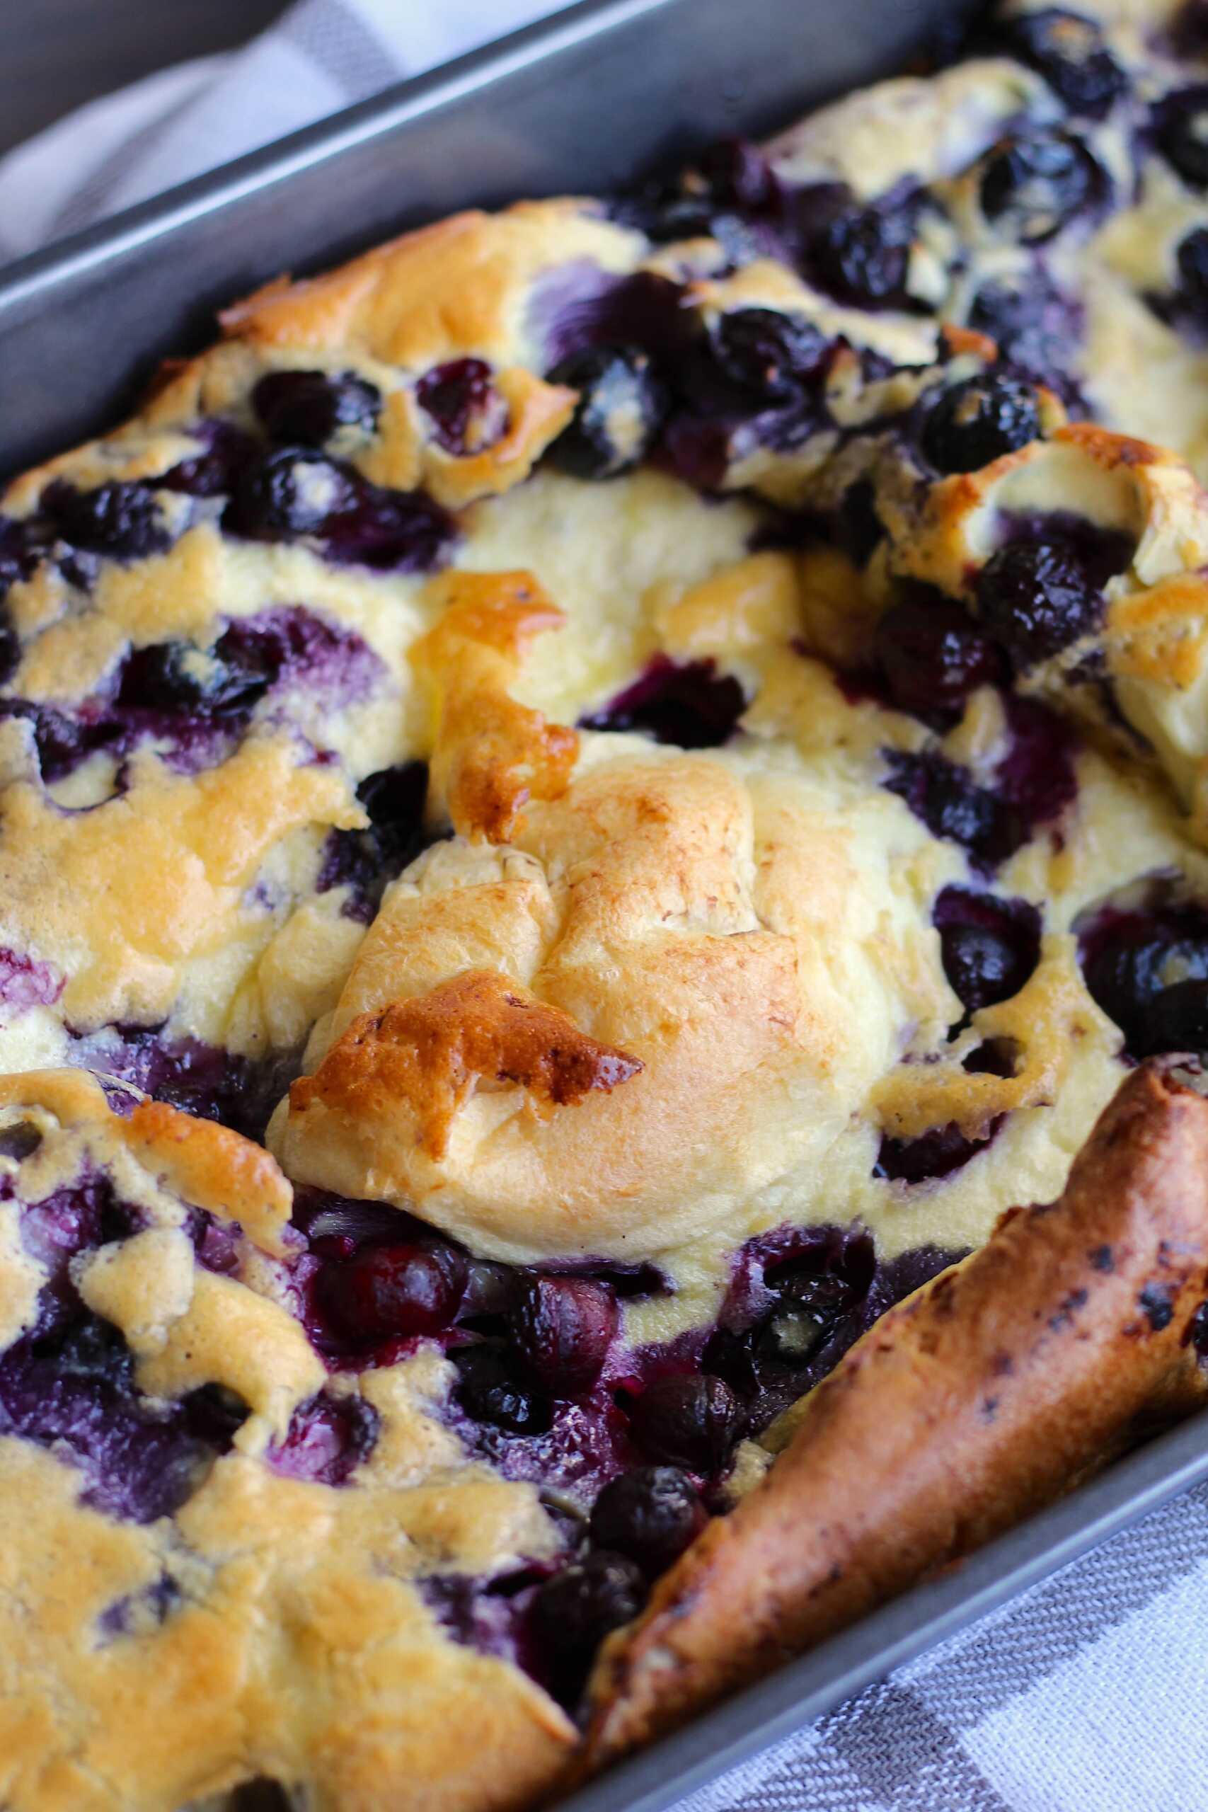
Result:
M960 710L980 685L998 685L1005 661L947 598L896 603L877 623L877 665L895 705L918 716Z

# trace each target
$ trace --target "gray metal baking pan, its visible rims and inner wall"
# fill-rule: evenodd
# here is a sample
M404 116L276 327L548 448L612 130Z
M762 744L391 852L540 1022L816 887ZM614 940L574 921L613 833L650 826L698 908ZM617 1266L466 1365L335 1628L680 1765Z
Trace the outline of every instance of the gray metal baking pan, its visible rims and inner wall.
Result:
M283 270L518 196L598 192L902 67L960 0L585 0L0 272L0 475L98 433ZM1208 1477L1203 1417L583 1788L659 1812Z

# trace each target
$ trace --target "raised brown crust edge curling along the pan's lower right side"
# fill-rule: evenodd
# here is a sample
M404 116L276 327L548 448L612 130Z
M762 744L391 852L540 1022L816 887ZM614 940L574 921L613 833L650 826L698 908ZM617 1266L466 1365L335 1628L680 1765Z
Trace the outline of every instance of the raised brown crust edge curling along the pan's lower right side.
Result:
M891 1308L788 1412L766 1480L609 1640L587 1767L672 1729L1208 1393L1208 1104L1155 1067L1101 1116L1065 1194Z

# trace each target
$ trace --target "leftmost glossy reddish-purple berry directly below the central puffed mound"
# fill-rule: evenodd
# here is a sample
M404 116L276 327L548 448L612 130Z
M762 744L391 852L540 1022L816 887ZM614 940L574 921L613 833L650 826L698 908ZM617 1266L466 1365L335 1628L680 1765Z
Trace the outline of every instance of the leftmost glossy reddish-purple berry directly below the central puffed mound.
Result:
M319 1301L344 1339L375 1346L438 1334L456 1316L465 1259L455 1247L366 1247L319 1276Z

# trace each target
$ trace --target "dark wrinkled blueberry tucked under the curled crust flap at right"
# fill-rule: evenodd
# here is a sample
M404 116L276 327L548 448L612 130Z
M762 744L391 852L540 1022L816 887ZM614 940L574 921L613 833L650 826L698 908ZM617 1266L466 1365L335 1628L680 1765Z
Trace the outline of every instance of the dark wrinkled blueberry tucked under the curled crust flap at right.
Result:
M1103 614L1103 598L1083 562L1049 542L1007 542L978 573L976 596L978 622L1016 667L1059 654Z

